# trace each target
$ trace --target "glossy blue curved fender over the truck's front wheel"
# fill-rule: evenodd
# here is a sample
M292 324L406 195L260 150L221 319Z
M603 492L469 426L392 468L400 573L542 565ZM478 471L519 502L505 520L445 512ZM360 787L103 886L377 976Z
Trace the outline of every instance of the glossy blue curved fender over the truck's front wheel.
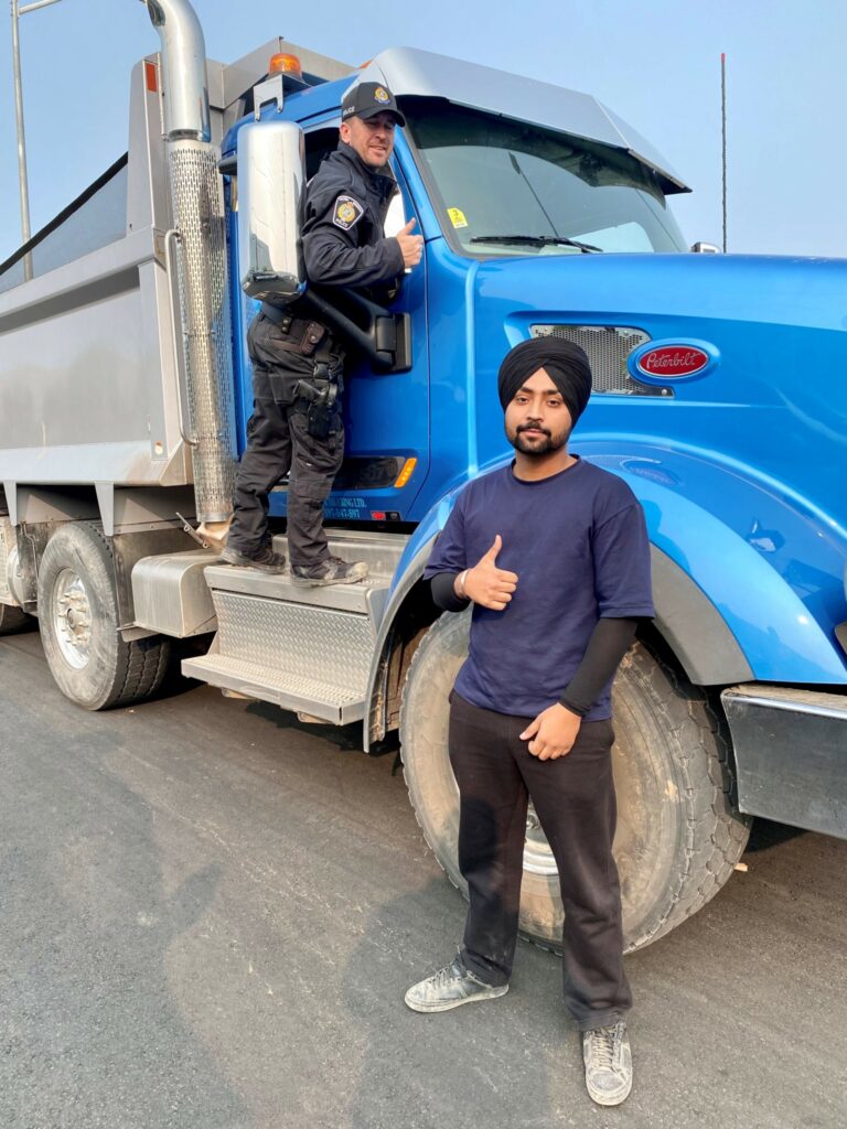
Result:
M831 515L785 483L714 450L673 447L666 439L661 446L592 439L578 449L625 479L644 506L658 563L657 621L669 642L684 644L681 650L674 647L678 655L708 646L692 641L700 627L697 618L687 621L701 601L692 589L683 598L688 585L679 576L669 584L673 574L667 561L713 605L750 671L746 679L719 674L719 663L702 665L704 655L690 667L700 675L695 681L727 684L731 677L749 681L752 675L769 682L847 684L847 664L835 636L845 611L847 531ZM675 606L679 599L681 607Z

